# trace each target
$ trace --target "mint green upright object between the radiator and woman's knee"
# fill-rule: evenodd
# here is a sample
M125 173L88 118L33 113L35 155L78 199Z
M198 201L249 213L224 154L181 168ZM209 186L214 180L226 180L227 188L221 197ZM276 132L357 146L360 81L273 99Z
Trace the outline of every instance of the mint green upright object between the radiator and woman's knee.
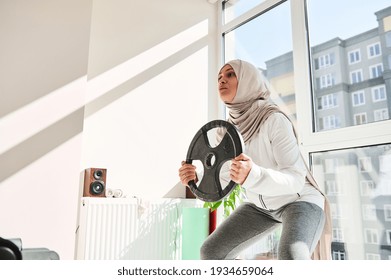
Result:
M202 243L209 235L209 209L183 208L182 259L199 260Z

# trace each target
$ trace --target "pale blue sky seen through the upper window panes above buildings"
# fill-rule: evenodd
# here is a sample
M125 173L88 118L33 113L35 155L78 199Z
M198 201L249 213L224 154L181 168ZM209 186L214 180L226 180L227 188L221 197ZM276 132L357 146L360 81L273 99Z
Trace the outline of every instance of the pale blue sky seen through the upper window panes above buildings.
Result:
M243 13L262 0L240 0L235 13ZM348 39L377 27L375 12L391 6L390 0L308 0L310 45L332 38ZM264 61L292 51L290 1L262 14L226 35L235 37L236 54L265 68Z

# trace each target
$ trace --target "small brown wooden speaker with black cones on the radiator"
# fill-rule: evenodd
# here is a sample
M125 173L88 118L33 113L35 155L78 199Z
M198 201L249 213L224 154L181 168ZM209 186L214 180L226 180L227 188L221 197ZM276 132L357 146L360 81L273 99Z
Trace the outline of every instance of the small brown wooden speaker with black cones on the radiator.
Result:
M105 168L88 168L84 170L83 196L105 197L106 173L107 170Z

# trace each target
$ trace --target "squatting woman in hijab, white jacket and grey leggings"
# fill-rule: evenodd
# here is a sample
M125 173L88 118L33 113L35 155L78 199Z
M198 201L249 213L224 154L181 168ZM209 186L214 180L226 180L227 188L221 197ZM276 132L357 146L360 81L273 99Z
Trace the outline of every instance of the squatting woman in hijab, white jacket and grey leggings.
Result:
M282 223L278 259L329 259L327 199L301 157L292 123L270 101L260 71L233 60L221 68L218 84L228 121L245 143L245 153L232 160L227 180L240 184L249 202L205 240L201 258L234 259ZM182 162L179 177L184 185L197 180L195 166Z

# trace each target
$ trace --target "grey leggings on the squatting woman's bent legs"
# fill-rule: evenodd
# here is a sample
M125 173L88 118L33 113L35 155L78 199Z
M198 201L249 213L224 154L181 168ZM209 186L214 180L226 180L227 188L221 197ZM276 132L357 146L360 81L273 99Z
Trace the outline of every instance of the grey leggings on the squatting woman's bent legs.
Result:
M282 223L278 259L308 260L322 234L324 222L323 210L308 202L293 202L275 211L245 203L205 240L201 259L235 259Z

